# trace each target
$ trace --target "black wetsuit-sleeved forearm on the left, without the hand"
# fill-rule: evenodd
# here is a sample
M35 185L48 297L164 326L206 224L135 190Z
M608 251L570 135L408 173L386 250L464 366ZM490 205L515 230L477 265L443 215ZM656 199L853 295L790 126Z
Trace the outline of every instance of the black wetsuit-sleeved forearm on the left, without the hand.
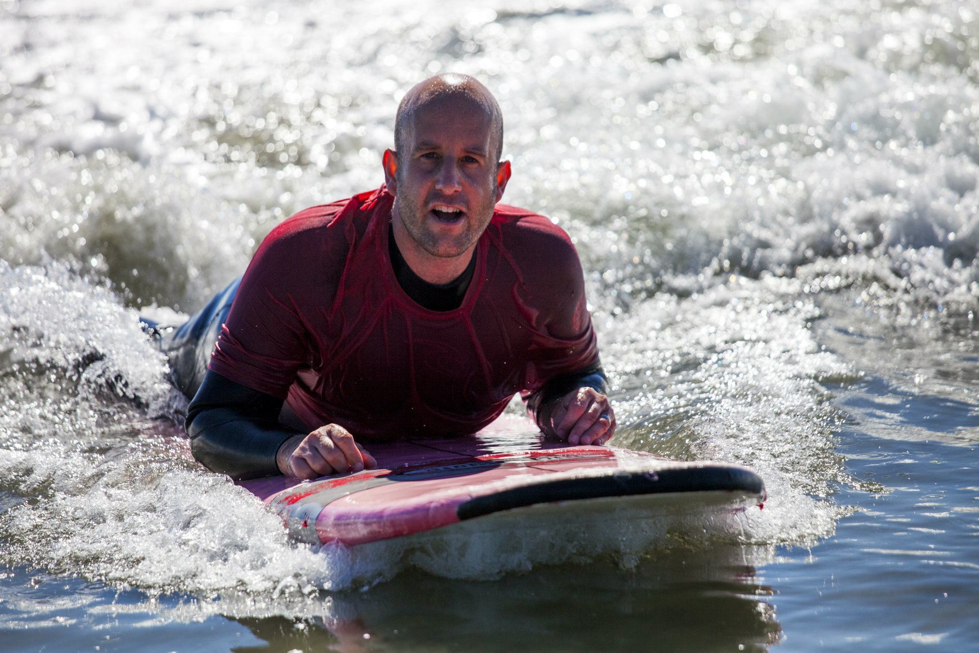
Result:
M191 453L235 480L281 474L275 456L297 431L279 425L282 400L208 372L187 412Z

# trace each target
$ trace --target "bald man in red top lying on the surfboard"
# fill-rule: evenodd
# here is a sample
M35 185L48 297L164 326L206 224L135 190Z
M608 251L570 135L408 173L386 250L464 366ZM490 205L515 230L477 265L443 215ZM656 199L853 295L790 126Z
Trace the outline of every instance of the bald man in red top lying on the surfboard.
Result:
M274 228L240 283L163 337L178 373L202 372L220 327L203 379L182 381L199 461L234 478L356 472L376 465L364 445L474 433L516 392L548 435L612 436L574 246L496 206L502 135L476 79L422 81L384 186Z

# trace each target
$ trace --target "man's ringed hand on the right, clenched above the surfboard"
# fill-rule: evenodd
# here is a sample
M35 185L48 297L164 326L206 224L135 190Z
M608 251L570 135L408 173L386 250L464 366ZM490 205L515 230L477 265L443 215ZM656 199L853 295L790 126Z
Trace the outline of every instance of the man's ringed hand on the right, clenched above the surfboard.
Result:
M580 387L549 402L538 425L568 444L605 444L615 433L615 411L604 394Z

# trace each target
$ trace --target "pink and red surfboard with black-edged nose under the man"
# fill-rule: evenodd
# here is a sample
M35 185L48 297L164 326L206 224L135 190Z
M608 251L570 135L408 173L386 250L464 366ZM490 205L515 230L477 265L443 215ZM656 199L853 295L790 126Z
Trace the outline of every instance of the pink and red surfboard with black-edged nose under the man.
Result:
M467 525L540 527L585 516L738 511L761 506L765 483L748 468L682 462L612 446L479 436L368 447L378 467L300 480L240 484L309 543L376 542Z

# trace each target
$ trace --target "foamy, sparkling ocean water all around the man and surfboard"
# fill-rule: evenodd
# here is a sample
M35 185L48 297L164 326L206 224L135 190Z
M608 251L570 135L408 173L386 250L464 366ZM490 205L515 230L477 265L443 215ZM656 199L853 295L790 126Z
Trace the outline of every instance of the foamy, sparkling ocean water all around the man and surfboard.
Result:
M193 461L137 316L379 185L445 71L577 243L612 444L764 510L317 549ZM973 650L977 179L970 2L0 0L0 649Z

